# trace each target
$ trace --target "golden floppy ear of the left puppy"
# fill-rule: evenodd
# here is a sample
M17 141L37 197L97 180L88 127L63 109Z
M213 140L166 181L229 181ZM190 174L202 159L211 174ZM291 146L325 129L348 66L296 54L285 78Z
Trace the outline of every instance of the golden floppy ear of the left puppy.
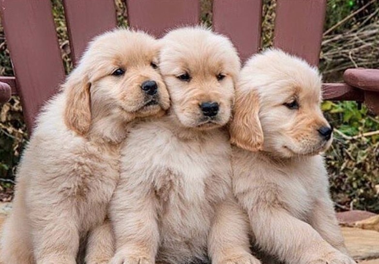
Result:
M91 125L90 88L91 84L80 68L74 70L63 85L67 95L64 111L65 124L82 136L87 134Z

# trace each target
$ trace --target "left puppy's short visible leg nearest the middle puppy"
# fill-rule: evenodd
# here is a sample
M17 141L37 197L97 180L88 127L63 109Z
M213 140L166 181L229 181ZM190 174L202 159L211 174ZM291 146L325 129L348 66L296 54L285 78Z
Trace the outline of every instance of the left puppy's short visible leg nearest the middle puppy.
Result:
M114 255L115 241L109 220L91 230L87 249L86 264L107 264Z

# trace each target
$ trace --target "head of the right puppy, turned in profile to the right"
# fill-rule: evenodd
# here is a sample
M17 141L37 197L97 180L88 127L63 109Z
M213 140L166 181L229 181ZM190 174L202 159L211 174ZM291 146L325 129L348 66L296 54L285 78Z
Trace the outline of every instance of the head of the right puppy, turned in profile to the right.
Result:
M286 158L317 154L332 142L320 103L316 68L280 50L256 55L240 74L231 140Z

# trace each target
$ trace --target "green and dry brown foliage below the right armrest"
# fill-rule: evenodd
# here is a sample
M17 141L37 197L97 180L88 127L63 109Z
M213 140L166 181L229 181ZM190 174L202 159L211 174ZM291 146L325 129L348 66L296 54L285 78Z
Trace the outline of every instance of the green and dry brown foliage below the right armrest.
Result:
M325 159L337 208L379 212L379 117L355 102L326 101L322 109L334 125Z

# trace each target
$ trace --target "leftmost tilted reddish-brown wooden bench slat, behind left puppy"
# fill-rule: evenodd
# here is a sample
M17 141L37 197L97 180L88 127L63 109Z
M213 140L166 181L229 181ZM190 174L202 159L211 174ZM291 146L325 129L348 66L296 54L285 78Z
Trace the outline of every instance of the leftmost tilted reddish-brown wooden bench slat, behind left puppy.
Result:
M64 79L50 0L1 0L5 37L29 132L43 103Z

